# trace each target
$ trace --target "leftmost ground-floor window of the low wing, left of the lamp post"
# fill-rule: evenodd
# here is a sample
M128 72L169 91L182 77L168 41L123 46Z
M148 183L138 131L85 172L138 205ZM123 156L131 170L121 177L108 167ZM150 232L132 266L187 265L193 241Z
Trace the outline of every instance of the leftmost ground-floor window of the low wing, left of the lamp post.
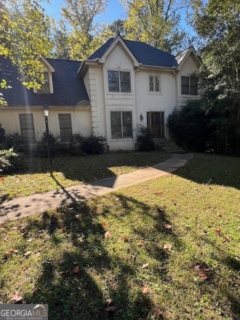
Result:
M35 133L32 114L19 114L19 120L23 143L35 143Z

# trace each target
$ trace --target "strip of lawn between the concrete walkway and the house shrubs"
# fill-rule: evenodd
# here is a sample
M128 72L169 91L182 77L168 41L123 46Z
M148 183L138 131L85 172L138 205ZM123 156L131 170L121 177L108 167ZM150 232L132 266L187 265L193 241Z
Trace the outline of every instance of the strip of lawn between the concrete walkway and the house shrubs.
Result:
M53 157L54 179L47 173L47 158L29 158L24 174L5 175L0 178L0 197L12 199L119 175L160 163L168 157L169 154L160 151Z

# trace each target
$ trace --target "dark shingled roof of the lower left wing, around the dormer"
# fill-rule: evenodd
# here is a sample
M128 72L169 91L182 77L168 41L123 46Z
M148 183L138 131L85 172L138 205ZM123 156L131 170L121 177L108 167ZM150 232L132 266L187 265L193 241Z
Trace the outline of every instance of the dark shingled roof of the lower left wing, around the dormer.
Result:
M12 88L0 90L8 105L48 105L76 106L89 98L82 79L77 77L77 70L81 61L49 59L47 61L54 67L53 92L33 93L17 80L16 67L9 60L0 56L0 79L5 78ZM4 74L2 74L4 73Z

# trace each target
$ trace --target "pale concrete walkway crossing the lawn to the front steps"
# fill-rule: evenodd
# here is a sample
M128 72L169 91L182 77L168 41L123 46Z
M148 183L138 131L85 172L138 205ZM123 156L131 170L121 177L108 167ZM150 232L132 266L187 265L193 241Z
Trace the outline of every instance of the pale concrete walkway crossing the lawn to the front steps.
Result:
M191 157L192 154L190 153L174 153L171 154L171 158L162 163L129 173L96 180L91 183L73 185L67 188L3 201L0 204L0 223L44 212L95 195L101 195L124 186L160 177L184 165Z

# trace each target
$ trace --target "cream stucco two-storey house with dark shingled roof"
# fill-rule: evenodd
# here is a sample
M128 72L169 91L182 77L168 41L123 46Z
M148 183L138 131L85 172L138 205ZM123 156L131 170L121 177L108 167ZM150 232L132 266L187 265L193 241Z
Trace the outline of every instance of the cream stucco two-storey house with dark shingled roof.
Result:
M49 130L62 141L74 132L93 132L106 136L109 150L135 149L137 124L148 126L154 137L170 138L168 114L199 96L194 73L202 62L192 46L173 56L118 35L82 62L37 58L44 65L41 90L27 90L9 66L12 89L4 92L8 106L0 108L6 132L21 132L26 142L41 136L41 107L47 104Z

